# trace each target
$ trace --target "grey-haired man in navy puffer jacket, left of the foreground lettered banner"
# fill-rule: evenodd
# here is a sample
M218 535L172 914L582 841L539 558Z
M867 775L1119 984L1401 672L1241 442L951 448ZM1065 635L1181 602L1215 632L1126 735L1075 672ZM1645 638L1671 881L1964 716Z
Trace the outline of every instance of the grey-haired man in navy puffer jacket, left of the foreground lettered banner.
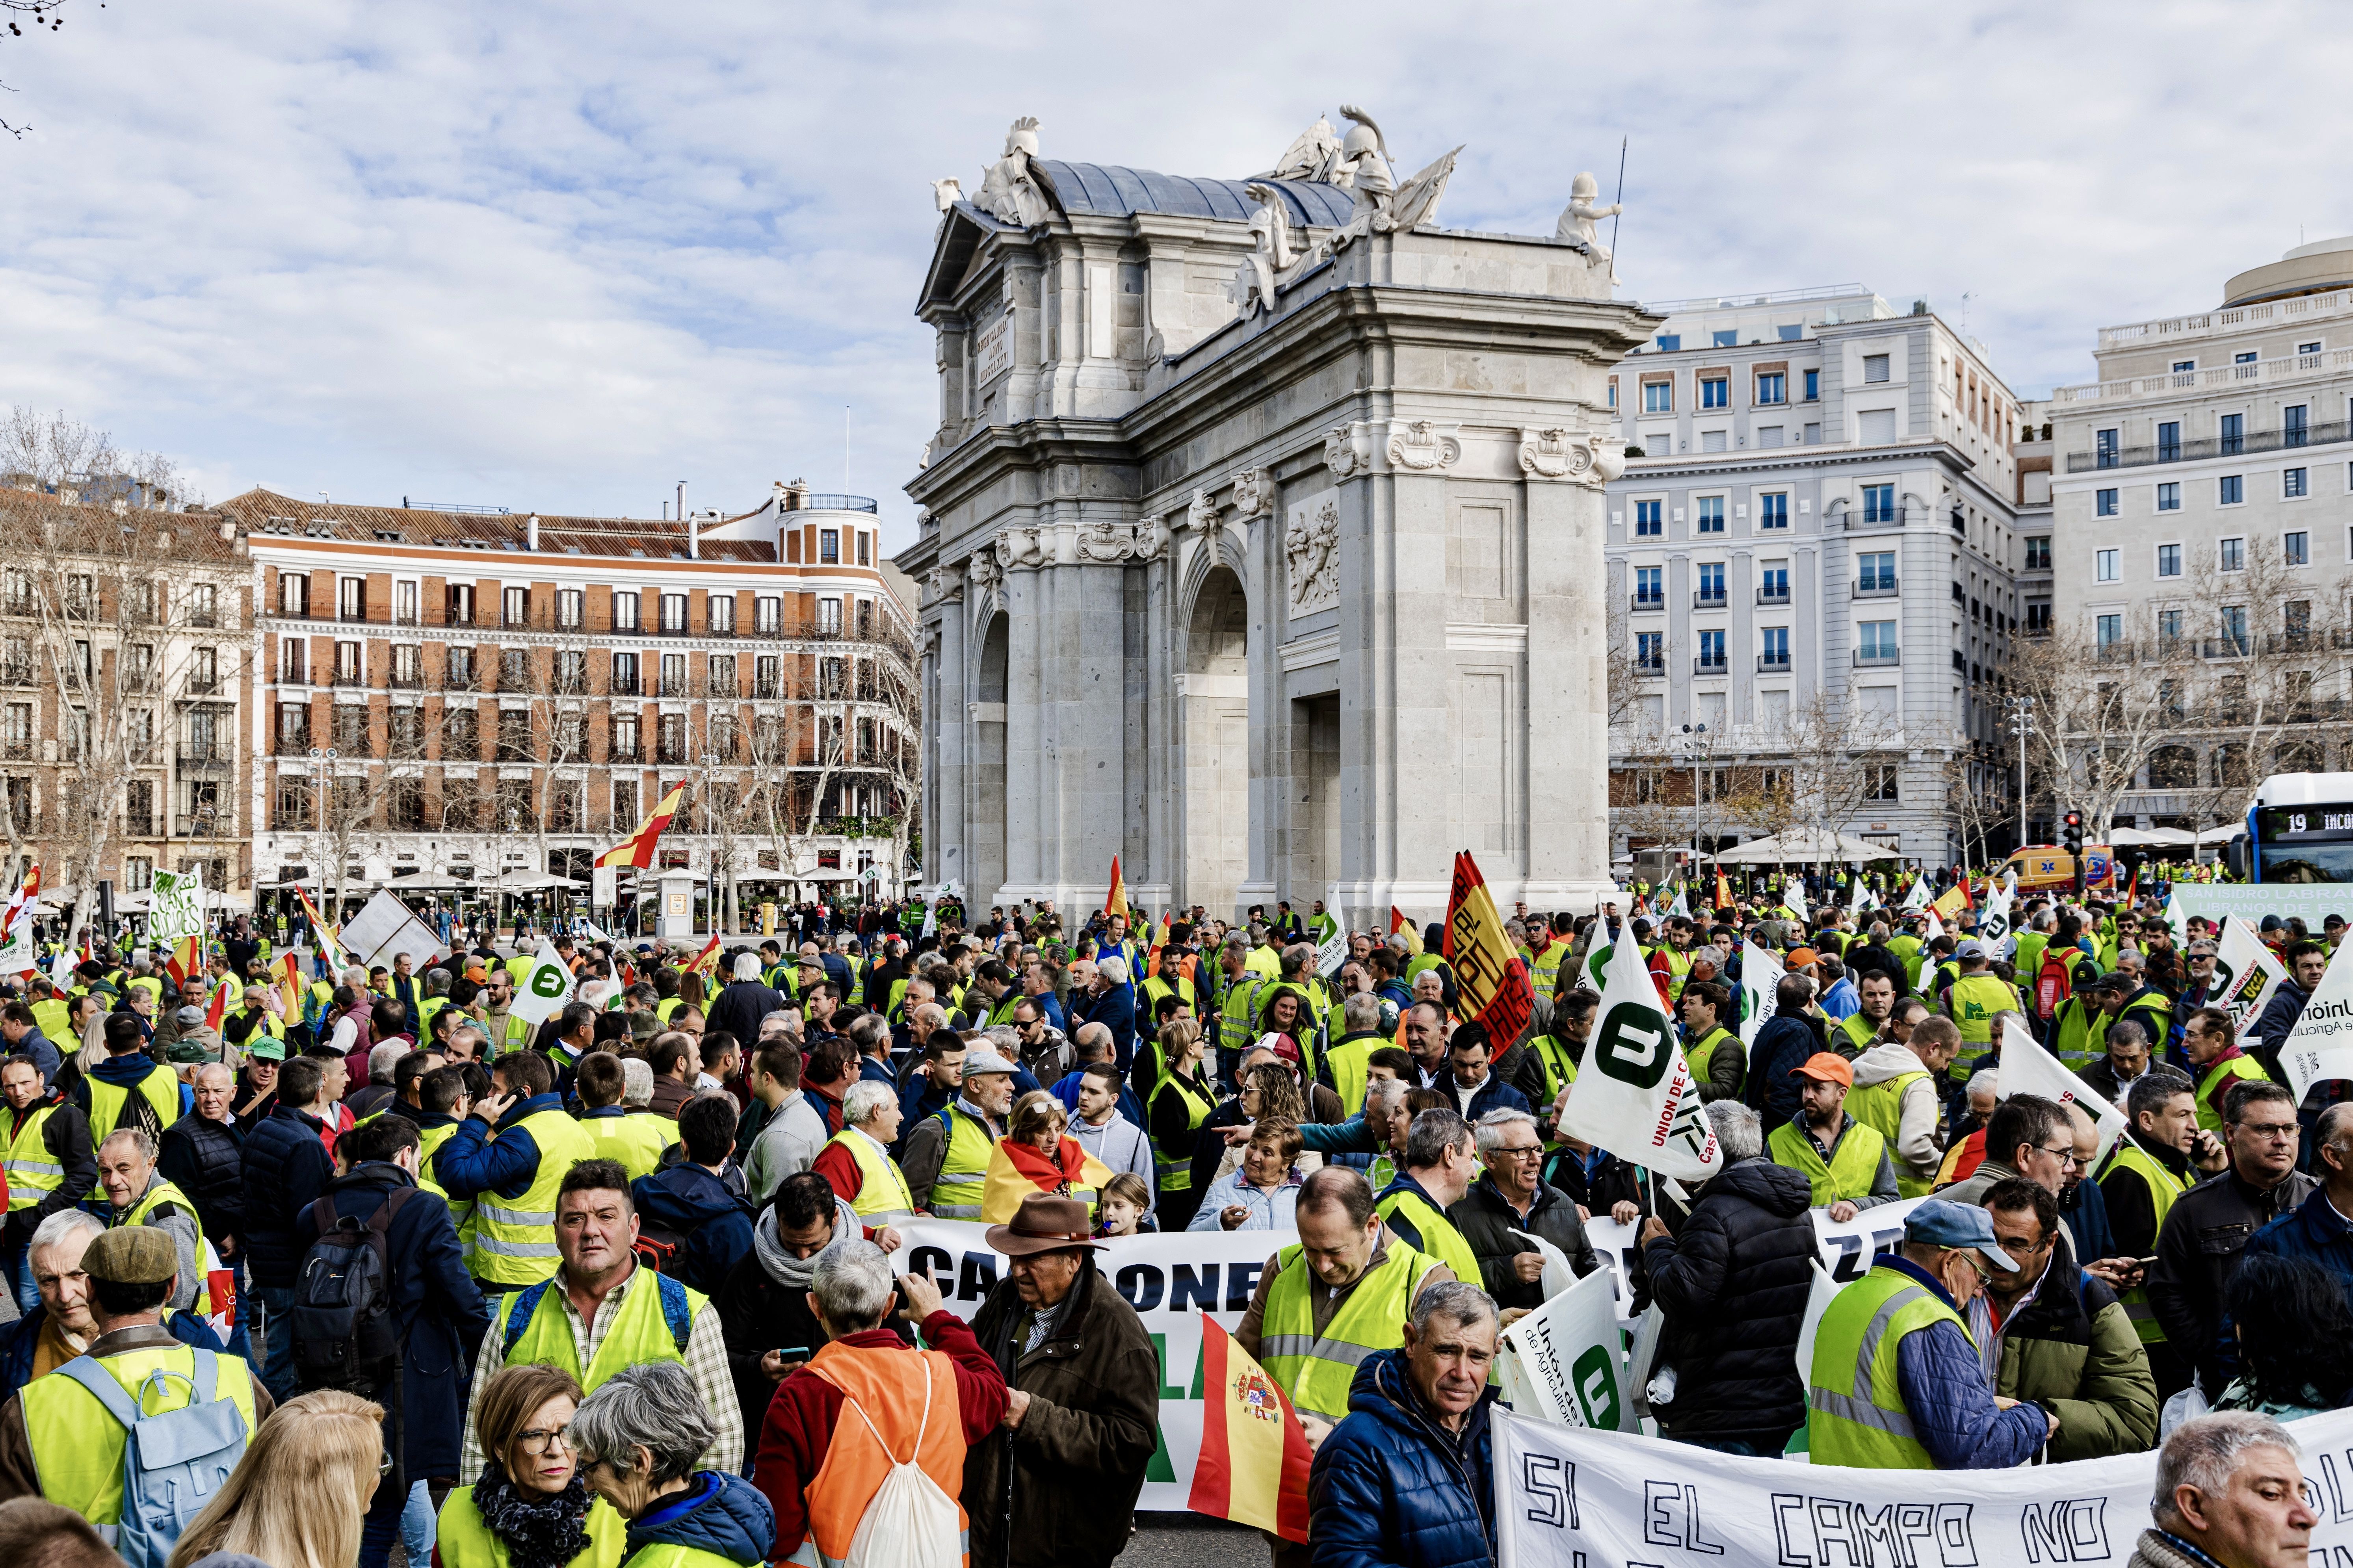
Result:
M1308 1476L1308 1535L1320 1561L1440 1568L1492 1559L1487 1410L1499 1389L1487 1368L1497 1326L1485 1291L1433 1284L1414 1298L1405 1347L1365 1356L1358 1385L1372 1396L1351 1401Z

